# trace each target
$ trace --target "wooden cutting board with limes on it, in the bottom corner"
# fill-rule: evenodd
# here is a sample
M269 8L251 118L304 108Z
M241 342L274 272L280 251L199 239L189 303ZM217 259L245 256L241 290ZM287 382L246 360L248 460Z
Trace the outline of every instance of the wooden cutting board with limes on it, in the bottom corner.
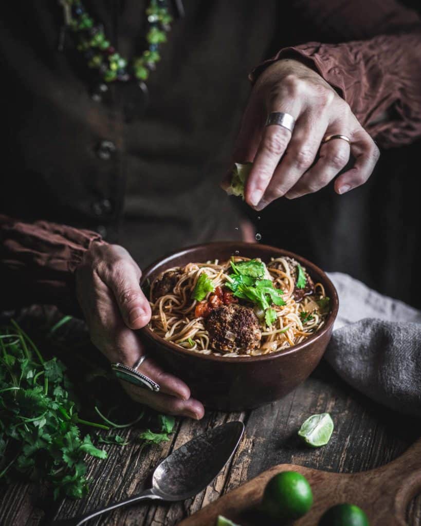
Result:
M265 485L276 473L298 471L309 481L314 503L312 509L294 526L316 526L322 514L334 504L349 502L368 515L370 526L405 526L407 505L421 491L421 439L401 457L380 468L360 473L330 473L279 464L246 484L225 494L194 513L179 526L215 526L218 515L241 526L272 524L262 520L254 509L262 499Z

